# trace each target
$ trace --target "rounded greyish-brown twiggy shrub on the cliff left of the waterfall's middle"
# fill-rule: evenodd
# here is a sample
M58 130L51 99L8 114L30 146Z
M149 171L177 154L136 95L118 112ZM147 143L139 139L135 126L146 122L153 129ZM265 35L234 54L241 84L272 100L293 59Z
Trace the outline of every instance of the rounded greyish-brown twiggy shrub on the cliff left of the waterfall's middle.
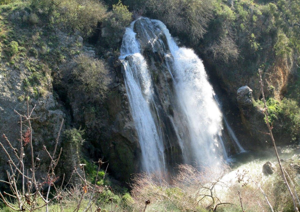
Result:
M105 62L83 54L74 58L74 62L76 67L72 74L79 82L77 89L84 91L91 100L98 101L104 98L110 83Z

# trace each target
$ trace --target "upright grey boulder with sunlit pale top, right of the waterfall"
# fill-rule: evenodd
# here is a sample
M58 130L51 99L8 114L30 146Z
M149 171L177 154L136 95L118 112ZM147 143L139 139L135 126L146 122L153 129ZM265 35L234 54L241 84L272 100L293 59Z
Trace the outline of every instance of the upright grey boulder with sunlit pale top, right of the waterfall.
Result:
M236 92L236 100L238 102L238 107L241 112L249 117L250 109L252 107L252 90L247 85L238 88Z

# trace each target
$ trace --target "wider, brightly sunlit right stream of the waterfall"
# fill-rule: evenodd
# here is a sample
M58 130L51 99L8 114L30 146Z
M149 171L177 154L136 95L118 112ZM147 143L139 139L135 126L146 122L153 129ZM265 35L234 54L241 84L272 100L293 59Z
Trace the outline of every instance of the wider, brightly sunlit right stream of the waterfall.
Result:
M167 27L152 20L167 37L173 56L172 76L176 76L176 94L183 112L187 116L190 144L197 163L215 165L222 154L218 151L218 135L222 130L222 114L214 101L214 91L207 80L200 58L191 49L179 48ZM226 154L223 153L223 154Z

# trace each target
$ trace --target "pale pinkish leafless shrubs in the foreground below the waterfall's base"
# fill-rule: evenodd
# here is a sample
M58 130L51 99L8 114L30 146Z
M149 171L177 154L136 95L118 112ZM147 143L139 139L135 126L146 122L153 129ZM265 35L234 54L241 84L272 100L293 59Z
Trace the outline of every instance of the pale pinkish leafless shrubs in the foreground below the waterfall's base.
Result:
M137 175L131 185L133 198L138 201L151 196L152 203L172 202L183 211L195 210L197 206L216 211L220 205L232 205L223 199L224 196L220 192L229 190L232 185L231 182L223 180L229 172L228 166L195 168L181 164L178 168L178 174L172 177L170 182L156 178L156 174Z

